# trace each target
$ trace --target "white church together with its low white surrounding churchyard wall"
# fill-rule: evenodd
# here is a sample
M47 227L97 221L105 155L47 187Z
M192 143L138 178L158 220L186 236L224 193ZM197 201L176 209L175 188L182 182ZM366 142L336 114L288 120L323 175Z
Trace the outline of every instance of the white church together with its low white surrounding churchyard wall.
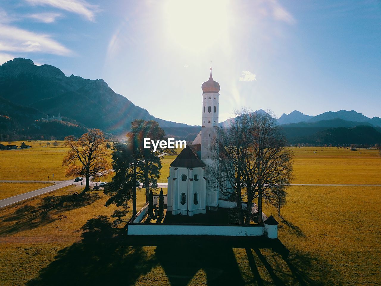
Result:
M212 70L212 68L210 68ZM170 165L168 195L164 196L166 215L162 223L142 222L148 212L148 203L128 223L128 235L216 235L262 236L277 238L278 223L274 217L263 214L264 224L239 225L229 221L229 211L237 207L208 180L208 168L218 166L210 146L218 130L218 82L209 79L202 88L202 128L191 145L183 148ZM229 188L229 186L226 186ZM154 205L158 202L154 195ZM242 202L242 208L246 209ZM253 204L251 213L258 212Z

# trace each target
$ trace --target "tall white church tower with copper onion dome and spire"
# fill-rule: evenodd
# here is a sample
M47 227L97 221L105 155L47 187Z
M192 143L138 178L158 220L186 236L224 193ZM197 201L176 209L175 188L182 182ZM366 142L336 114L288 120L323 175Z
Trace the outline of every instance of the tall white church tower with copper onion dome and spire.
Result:
M211 146L213 137L217 134L218 128L218 98L219 84L212 77L212 68L210 68L210 77L204 82L202 88L202 128L201 128L201 160L206 165L213 164L215 155L208 149Z

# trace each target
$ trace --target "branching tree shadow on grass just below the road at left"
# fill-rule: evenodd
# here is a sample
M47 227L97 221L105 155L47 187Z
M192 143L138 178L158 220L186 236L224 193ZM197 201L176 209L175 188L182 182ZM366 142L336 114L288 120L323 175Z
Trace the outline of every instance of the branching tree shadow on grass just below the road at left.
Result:
M100 199L97 193L66 194L48 196L41 199L37 206L25 204L16 209L13 214L0 217L0 235L12 234L22 230L29 230L55 220L62 219L62 212L92 204ZM10 222L6 224L7 222Z

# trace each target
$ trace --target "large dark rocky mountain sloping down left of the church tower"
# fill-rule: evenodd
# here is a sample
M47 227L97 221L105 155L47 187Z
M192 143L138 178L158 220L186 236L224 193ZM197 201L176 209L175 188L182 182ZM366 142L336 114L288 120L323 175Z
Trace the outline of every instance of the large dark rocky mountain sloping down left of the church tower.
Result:
M14 108L0 105L0 115L18 122L21 129L29 128L31 122L47 114L60 113L63 121L72 124L70 126L99 128L112 135L123 135L130 130L134 119L155 120L167 135L174 137L193 139L200 130L197 125L152 116L146 109L115 93L102 79L67 77L57 67L36 66L30 59L16 58L0 66L0 97L8 106L18 104L21 110L33 110L34 113L21 114Z

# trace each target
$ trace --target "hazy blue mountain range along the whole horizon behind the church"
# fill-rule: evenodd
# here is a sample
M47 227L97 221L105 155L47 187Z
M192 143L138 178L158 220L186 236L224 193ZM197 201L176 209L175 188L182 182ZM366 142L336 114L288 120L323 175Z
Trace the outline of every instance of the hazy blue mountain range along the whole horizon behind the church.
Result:
M44 120L48 115L59 113L62 121ZM192 141L201 129L199 125L152 116L146 109L115 93L102 79L67 77L57 67L36 66L32 60L23 58L0 66L0 141L79 137L91 128L103 130L109 138L122 138L134 119L155 120L168 136L188 141ZM220 126L228 127L232 120L227 119ZM295 110L282 114L277 122L290 142L381 143L378 141L381 118L368 118L354 110L328 111L317 116ZM364 132L373 135L369 137ZM361 137L363 140L359 139Z

